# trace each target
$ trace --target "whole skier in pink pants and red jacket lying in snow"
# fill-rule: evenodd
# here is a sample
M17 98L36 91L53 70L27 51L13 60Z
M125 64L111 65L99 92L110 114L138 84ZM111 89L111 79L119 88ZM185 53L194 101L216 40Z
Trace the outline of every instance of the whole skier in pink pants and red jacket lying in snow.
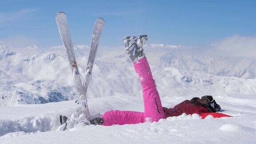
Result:
M220 110L220 105L216 103L212 96L194 97L192 100L184 100L174 108L162 107L147 58L143 53L142 46L146 43L147 39L148 36L146 35L138 37L127 36L124 38L126 52L133 61L133 66L142 86L144 112L112 110L105 112L101 117L90 120L91 124L105 126L113 124L138 124L144 123L146 120L158 121L169 116L180 116L182 113L196 113L202 116L203 119L208 115L212 115L213 117L228 116L222 113L215 113Z

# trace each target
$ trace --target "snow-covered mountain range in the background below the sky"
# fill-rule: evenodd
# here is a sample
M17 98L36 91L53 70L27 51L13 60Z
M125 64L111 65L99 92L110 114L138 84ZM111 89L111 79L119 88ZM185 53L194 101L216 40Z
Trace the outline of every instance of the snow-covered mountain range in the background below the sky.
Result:
M88 46L74 44L83 73ZM182 46L148 44L145 54L161 97L255 94L256 61L192 55ZM140 96L139 81L124 48L100 47L88 98ZM0 43L0 106L75 100L72 72L62 46L8 48Z

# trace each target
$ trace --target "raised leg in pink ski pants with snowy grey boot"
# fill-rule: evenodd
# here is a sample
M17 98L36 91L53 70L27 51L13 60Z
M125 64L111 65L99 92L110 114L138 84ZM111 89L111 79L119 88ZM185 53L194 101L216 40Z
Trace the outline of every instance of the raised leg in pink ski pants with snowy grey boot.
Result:
M133 61L133 66L137 72L143 90L144 118L151 121L158 121L165 118L161 100L156 89L155 80L144 55L142 46L148 40L147 35L124 37L124 45L128 56Z

